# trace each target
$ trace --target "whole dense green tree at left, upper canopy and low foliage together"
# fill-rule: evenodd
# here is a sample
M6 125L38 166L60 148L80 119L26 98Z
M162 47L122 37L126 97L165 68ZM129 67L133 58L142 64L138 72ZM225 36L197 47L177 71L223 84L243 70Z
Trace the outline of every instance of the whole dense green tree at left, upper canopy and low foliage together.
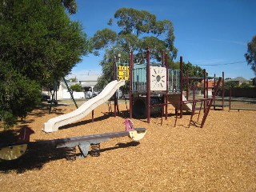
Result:
M26 117L38 104L42 85L69 74L87 54L86 34L67 11L75 13L74 0L0 0L0 118L4 122L12 122L12 115Z

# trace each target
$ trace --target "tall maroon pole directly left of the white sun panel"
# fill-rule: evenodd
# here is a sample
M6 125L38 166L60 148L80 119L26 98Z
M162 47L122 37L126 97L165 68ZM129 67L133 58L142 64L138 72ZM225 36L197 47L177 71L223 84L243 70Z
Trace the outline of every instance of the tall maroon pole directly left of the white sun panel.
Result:
M150 123L150 49L146 51L146 117Z

